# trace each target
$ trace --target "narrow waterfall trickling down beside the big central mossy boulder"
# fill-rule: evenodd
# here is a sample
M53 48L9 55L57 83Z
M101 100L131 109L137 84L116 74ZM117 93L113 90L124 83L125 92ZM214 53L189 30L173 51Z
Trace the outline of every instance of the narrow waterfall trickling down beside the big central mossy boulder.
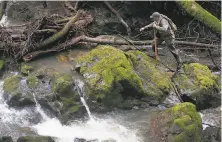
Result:
M87 113L89 115L89 118L93 120L92 114L91 114L91 112L89 110L89 106L87 105L87 103L86 103L86 101L84 99L86 97L85 91L84 91L84 82L79 80L79 79L74 80L74 82L75 82L77 91L79 93L80 100L83 103L83 105L85 106L86 111L87 111Z

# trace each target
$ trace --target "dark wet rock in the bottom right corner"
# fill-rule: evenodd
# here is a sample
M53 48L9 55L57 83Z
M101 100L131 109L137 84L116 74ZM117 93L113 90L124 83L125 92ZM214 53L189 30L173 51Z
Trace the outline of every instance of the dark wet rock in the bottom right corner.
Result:
M202 132L201 142L221 142L220 132L220 128L207 127Z

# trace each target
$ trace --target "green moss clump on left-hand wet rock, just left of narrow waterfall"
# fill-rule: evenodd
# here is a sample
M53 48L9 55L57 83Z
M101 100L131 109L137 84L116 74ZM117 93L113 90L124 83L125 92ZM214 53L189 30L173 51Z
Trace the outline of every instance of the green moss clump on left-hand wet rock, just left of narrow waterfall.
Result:
M72 76L69 74L54 74L52 89L59 95L72 93Z

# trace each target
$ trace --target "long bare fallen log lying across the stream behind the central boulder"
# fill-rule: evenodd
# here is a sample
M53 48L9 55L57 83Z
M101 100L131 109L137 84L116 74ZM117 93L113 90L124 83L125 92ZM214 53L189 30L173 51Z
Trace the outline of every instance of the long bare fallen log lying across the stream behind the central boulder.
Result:
M152 40L147 40L147 41L128 40L128 41L126 41L126 40L124 40L120 37L117 37L117 36L102 35L102 36L92 38L92 37L87 37L87 36L83 35L83 36L79 36L79 37L74 37L69 42L60 44L59 46L57 46L53 49L49 49L46 51L35 51L35 52L28 53L25 56L23 56L23 60L24 61L31 61L39 55L50 53L50 52L60 52L62 50L70 49L74 45L77 45L78 43L82 43L82 42L97 43L97 44L111 44L111 45L130 45L130 43L132 43L133 46L130 46L129 48L131 48L133 50L135 50L137 48L144 50L144 47L147 47L145 45L151 45L153 43ZM220 46L220 45L192 43L192 42L184 42L184 41L175 41L175 43L182 44L182 45L195 45L195 46L204 46L204 47L205 46L208 46L208 47L219 47ZM134 47L135 45L137 46L137 48ZM128 49L125 48L125 50L128 50Z

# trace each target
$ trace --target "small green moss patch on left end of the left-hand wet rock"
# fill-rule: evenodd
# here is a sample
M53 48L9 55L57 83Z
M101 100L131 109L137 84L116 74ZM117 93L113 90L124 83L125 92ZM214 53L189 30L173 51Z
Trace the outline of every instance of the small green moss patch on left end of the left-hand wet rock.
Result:
M3 89L6 93L12 93L19 87L19 82L22 79L20 75L14 75L4 80Z

